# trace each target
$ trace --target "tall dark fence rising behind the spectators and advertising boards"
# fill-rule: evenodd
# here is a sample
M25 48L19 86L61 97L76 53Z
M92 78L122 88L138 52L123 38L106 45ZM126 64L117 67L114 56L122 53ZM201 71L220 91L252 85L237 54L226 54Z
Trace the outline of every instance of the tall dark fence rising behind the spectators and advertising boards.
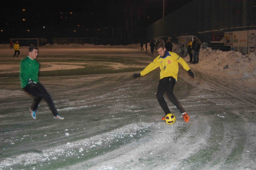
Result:
M194 0L147 27L147 39L194 35L209 47L212 33L256 29L255 0Z

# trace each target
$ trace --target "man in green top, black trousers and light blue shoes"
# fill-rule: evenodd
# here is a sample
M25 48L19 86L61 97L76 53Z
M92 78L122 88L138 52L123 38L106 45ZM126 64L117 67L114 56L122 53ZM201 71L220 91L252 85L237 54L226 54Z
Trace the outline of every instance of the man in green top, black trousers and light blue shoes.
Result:
M33 96L34 100L30 106L30 113L33 119L36 119L37 107L42 99L47 102L53 113L53 118L64 119L60 116L47 90L38 81L39 62L36 61L38 56L38 47L29 47L29 55L20 61L20 85L21 88Z

